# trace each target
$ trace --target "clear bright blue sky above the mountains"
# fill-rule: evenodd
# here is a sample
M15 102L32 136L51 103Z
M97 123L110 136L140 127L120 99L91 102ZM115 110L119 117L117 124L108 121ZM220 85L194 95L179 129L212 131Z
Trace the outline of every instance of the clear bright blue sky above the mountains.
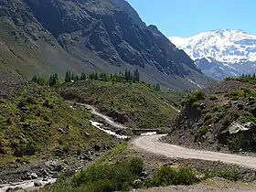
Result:
M215 29L256 34L255 0L127 0L147 25L166 37L191 37Z

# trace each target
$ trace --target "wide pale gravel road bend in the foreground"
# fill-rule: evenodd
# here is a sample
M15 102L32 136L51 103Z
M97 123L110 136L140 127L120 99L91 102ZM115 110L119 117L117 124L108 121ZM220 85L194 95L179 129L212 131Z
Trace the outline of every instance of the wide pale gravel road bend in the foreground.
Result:
M208 161L220 161L226 164L241 165L249 168L256 168L256 157L230 155L217 152L199 151L188 149L172 144L161 143L159 139L165 136L149 135L133 139L132 144L135 149L153 153L155 155L165 155L171 158L200 159Z

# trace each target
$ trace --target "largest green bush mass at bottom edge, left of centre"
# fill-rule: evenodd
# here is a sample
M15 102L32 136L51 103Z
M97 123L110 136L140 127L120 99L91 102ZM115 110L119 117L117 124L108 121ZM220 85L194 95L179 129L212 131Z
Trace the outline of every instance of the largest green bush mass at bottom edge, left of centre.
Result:
M73 177L72 186L88 192L131 189L143 171L143 161L140 158L127 161L117 165L90 165Z

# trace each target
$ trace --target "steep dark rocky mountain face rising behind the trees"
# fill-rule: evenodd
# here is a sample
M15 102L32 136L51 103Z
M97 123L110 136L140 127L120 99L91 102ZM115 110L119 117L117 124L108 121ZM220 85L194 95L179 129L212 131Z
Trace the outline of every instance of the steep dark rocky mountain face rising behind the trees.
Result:
M26 53L18 52L18 57L31 63L36 68L33 72L138 68L144 80L175 89L208 84L193 60L157 27L146 27L124 0L0 0L0 5L1 19L24 35L14 41L29 39L25 45L15 46L14 51L28 47ZM10 49L13 43L6 40L8 36L0 39ZM27 59L33 46L36 64L33 57ZM22 65L16 66L19 69Z

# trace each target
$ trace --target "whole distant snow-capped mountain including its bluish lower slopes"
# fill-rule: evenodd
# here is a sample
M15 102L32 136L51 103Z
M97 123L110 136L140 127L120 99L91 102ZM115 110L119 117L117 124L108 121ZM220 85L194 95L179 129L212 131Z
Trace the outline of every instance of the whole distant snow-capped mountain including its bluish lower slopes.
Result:
M216 80L256 71L256 35L220 29L169 39L195 60L197 68Z

